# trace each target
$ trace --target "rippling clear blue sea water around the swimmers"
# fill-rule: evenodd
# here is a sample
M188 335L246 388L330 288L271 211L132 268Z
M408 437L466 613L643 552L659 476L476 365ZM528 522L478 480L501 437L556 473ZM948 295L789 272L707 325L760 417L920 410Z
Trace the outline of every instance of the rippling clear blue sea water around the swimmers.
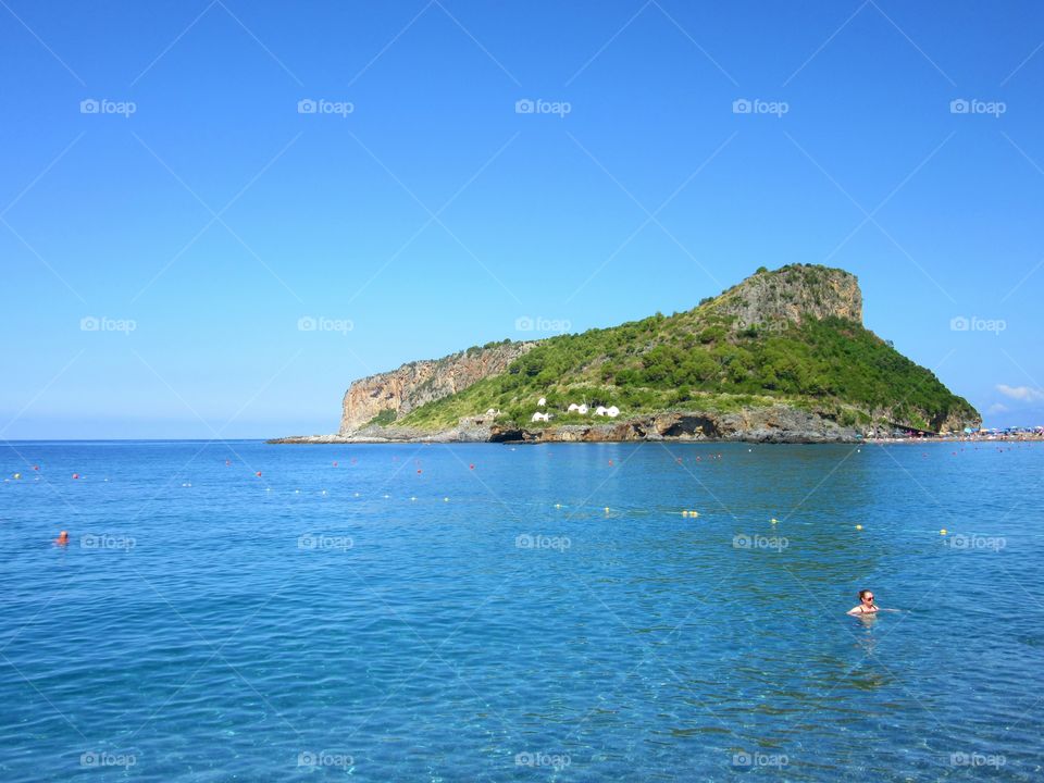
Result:
M1044 775L1041 445L0 464L3 781Z

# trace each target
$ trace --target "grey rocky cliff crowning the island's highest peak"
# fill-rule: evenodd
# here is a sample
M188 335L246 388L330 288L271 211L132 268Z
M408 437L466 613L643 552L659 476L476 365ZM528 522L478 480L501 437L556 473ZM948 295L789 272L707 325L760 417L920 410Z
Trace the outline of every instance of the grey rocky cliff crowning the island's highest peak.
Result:
M862 293L850 272L792 264L776 272L758 271L713 300L711 307L735 315L738 328L828 315L862 323Z

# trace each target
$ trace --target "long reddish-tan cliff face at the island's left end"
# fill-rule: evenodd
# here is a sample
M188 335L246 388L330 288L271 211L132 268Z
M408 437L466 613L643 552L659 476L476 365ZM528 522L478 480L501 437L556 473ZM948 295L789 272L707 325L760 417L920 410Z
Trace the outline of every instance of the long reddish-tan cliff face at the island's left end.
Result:
M502 343L470 348L356 381L345 393L340 434L356 432L382 411L405 415L426 402L462 391L488 375L504 372L534 345L533 341Z

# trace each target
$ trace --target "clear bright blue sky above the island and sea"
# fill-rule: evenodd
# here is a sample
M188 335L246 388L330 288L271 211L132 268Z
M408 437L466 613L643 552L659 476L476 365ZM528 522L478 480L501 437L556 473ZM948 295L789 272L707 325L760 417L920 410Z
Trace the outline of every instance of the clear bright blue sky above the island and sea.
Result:
M0 58L0 438L333 432L793 262L1044 423L1039 3L4 0Z

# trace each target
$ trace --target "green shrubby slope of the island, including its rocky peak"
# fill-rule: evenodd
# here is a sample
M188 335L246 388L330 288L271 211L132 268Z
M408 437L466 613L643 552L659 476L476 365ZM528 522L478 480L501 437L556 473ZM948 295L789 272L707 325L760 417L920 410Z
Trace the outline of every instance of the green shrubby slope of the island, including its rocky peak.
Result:
M536 410L552 414L550 425L591 423L589 414L567 412L572 402L617 406L622 419L779 403L824 412L846 426L937 431L948 420L978 419L932 372L848 314L861 319L848 273L762 268L686 312L540 340L506 372L422 405L395 425L443 430L488 409L498 422L526 427L546 426L531 422ZM373 423L391 423L388 414Z

